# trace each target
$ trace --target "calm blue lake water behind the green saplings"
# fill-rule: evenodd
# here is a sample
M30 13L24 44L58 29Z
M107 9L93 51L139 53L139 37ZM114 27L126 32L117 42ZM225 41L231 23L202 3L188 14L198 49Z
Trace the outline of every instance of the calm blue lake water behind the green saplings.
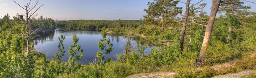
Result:
M43 54L47 54L47 59L51 60L52 56L55 56L55 52L58 51L58 37L65 35L66 38L63 41L64 50L66 51L65 56L61 58L62 61L67 61L70 54L68 54L68 49L71 44L73 44L72 34L76 33L76 36L79 38L78 44L81 45L81 49L84 50L84 56L79 60L79 62L92 62L95 58L98 48L98 41L101 36L101 31L92 31L92 30L58 30L56 29L52 33L41 34L40 37L35 37L35 46L36 51ZM110 54L105 54L105 59L111 57L113 60L116 60L116 54L120 54L123 51L125 46L124 36L121 35L107 35L107 38L110 38L111 43L113 43L114 50ZM136 39L131 39L131 44L134 44L134 49L136 51L137 41ZM106 46L108 48L108 46ZM149 53L151 48L146 48L145 53ZM77 53L78 54L78 53Z

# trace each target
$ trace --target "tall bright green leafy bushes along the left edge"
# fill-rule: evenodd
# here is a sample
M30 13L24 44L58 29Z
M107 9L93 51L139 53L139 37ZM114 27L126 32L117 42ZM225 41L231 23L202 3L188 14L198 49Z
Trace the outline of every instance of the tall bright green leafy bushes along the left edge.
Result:
M25 39L14 32L9 15L4 16L5 20L0 26L0 78L32 78L35 67L32 52L28 56L24 54Z

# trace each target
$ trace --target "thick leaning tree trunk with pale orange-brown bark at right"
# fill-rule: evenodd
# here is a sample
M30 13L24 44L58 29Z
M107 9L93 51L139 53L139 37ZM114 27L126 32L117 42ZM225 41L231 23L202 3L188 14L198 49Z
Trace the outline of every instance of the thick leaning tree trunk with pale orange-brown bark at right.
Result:
M212 0L212 8L211 8L212 11L210 13L210 19L209 19L207 27L206 27L206 31L205 31L205 35L204 35L204 42L202 44L200 54L199 54L198 59L196 61L196 66L197 67L203 65L206 50L207 50L207 45L208 45L208 42L209 42L209 39L210 39L210 36L211 36L211 32L212 32L212 26L214 24L215 17L216 17L216 14L218 12L218 8L219 8L220 3L221 3L221 0Z

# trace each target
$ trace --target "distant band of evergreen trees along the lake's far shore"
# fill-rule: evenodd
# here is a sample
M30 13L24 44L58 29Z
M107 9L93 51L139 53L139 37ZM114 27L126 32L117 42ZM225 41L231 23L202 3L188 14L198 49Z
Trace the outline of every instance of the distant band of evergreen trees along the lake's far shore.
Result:
M120 27L137 28L143 26L143 20L69 20L60 22L56 20L56 26L70 30L94 30L102 27L117 29Z

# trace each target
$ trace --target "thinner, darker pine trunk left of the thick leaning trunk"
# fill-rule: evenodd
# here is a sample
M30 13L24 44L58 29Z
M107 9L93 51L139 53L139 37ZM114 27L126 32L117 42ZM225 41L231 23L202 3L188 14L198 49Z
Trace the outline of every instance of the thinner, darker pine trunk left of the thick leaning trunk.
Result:
M183 51L183 42L184 42L185 31L186 31L186 23L187 23L188 16L189 16L189 3L190 3L190 0L187 0L185 16L183 19L182 29L180 31L180 51Z

